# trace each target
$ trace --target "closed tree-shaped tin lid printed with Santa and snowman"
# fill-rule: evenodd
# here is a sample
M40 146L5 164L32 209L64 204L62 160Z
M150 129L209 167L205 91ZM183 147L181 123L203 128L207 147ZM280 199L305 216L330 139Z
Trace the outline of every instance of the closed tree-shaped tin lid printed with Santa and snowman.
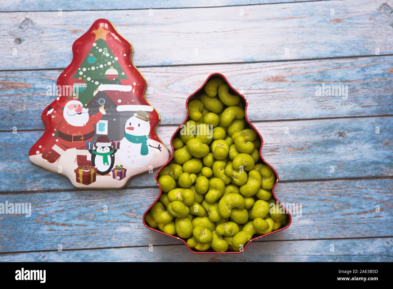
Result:
M145 99L147 83L132 63L132 45L108 20L95 21L72 51L29 159L77 188L124 188L169 160L156 134L160 115Z

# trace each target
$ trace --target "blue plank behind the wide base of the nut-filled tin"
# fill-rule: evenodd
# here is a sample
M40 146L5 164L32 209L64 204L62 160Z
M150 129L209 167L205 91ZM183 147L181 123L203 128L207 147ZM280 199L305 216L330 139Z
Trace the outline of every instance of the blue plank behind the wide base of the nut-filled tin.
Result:
M391 236L386 224L393 221L392 187L392 179L279 183L276 197L301 204L301 211L293 212L289 228L263 240ZM0 252L183 245L143 226L142 215L158 193L158 188L3 193L0 202L31 203L32 213L0 215Z

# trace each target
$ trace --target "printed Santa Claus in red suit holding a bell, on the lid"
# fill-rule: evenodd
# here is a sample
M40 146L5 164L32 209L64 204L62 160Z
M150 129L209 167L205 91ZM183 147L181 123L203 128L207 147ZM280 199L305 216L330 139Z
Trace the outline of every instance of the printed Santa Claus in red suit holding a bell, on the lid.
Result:
M63 115L54 115L52 120L58 125L59 142L50 151L42 153L42 158L50 163L55 162L67 149L86 149L86 141L94 138L94 125L105 112L104 105L99 111L89 116L89 109L77 99L70 99L64 106Z

